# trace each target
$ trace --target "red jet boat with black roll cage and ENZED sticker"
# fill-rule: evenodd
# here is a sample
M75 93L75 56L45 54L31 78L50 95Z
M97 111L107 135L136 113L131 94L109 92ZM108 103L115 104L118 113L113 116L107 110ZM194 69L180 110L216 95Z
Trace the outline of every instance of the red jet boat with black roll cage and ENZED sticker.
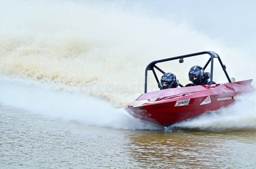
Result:
M211 62L210 85L198 85L184 87L179 83L179 88L164 89L147 93L148 70L152 70L159 83L155 69L165 73L156 63L179 59L184 62L184 58L196 55L210 55L205 68ZM229 83L212 84L213 59L217 58L228 79ZM169 126L174 123L197 117L207 112L218 110L235 102L236 98L246 92L254 91L250 85L252 79L231 82L225 65L220 60L220 56L212 51L199 52L189 55L182 55L162 60L153 61L148 64L145 71L145 93L140 95L135 101L125 105L125 110L135 118L150 121L159 125ZM187 85L186 85L187 86Z

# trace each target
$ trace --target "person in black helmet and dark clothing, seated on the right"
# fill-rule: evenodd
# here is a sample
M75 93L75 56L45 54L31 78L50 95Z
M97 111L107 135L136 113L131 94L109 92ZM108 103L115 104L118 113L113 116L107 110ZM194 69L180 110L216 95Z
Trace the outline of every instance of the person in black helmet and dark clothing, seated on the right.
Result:
M210 85L208 82L208 78L204 74L204 69L201 66L193 66L188 72L189 81L191 81L194 85ZM212 84L216 84L212 82Z

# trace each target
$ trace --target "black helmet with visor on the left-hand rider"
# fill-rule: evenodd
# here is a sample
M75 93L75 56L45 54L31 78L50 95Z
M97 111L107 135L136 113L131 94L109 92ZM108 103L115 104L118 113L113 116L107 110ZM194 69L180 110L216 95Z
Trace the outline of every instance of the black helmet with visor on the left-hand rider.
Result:
M163 83L168 83L168 85L164 86ZM176 76L173 73L164 73L161 77L161 90L162 89L170 89L178 87Z

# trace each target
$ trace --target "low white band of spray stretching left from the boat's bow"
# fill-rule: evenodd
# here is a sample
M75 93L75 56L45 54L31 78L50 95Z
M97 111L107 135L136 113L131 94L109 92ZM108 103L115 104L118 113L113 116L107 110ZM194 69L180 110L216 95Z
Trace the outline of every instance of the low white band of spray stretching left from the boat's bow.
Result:
M80 121L86 125L115 129L161 129L158 125L133 119L124 109L117 109L100 98L60 90L27 79L0 77L1 108L15 106L31 114Z

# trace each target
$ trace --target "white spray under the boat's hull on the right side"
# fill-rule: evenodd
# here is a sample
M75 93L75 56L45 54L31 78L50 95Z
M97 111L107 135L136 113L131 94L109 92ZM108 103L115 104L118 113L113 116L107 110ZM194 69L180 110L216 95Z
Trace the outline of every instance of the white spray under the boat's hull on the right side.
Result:
M256 93L241 96L234 104L218 111L204 114L188 121L177 123L170 127L196 130L237 130L256 129Z

